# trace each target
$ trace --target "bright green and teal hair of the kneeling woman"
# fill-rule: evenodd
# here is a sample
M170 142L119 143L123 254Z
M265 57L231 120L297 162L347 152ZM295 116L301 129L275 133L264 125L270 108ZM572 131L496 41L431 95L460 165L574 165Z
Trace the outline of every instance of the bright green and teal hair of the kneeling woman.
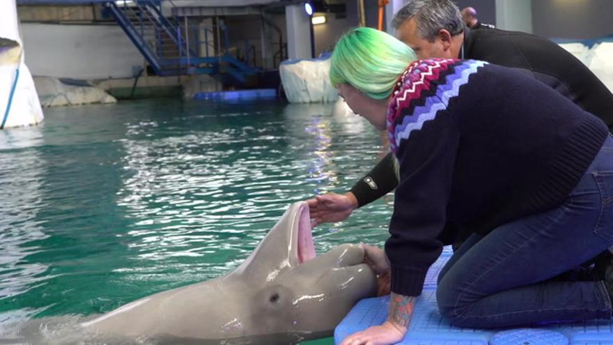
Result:
M347 83L370 98L383 100L415 60L413 49L394 36L368 27L353 28L334 47L330 81L335 88Z

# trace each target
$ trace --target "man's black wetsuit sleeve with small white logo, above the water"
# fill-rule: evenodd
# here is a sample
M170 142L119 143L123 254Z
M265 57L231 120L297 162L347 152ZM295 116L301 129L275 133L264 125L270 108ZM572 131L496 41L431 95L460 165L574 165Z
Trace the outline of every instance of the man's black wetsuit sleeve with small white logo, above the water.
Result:
M398 178L394 172L394 155L388 153L378 164L351 188L355 195L358 207L379 199L391 192L398 185Z

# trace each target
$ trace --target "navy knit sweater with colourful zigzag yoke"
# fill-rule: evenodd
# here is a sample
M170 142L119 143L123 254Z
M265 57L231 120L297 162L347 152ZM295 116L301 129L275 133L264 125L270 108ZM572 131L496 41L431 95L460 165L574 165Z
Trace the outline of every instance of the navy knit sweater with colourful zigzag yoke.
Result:
M559 206L606 125L545 84L483 61L430 59L399 78L387 125L400 166L391 291L421 293L447 222L486 234Z

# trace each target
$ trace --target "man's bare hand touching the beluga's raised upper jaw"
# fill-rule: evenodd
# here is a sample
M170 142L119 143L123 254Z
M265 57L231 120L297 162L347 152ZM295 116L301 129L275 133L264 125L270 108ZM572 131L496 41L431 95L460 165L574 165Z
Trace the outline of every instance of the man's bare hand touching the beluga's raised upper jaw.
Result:
M352 192L347 194L327 193L307 200L311 213L311 226L326 222L346 220L357 208L357 199Z

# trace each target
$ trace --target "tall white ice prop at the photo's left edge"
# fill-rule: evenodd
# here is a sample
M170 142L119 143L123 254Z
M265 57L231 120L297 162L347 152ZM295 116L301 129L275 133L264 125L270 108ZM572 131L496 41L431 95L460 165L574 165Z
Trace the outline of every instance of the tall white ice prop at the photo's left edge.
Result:
M24 63L17 5L15 0L1 0L0 128L36 125L42 118L36 87Z

